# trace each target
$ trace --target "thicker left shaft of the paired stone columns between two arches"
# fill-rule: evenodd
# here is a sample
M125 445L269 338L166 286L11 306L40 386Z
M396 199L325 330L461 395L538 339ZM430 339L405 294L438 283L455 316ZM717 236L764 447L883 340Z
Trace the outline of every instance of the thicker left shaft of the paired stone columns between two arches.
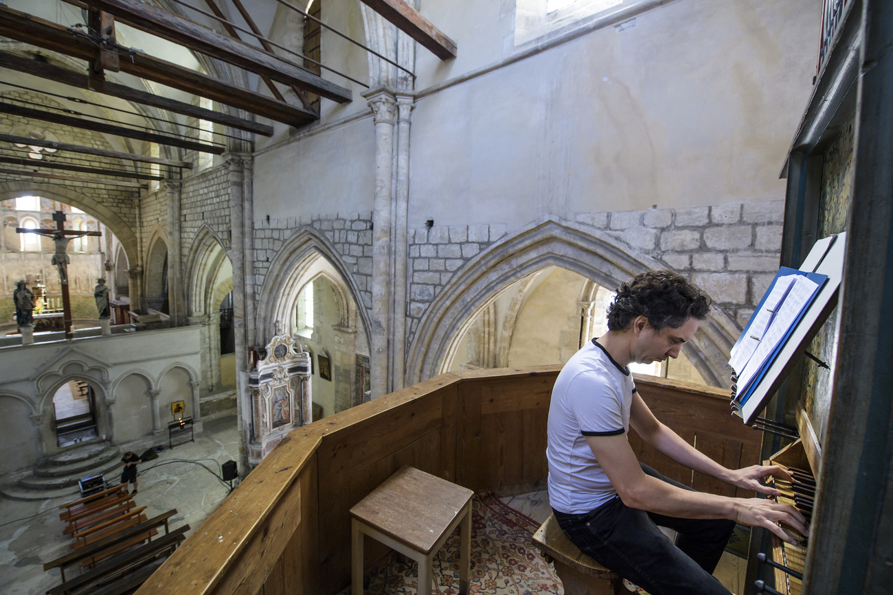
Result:
M387 394L390 335L391 194L396 100L387 88L364 93L375 115L375 201L372 208L371 396Z

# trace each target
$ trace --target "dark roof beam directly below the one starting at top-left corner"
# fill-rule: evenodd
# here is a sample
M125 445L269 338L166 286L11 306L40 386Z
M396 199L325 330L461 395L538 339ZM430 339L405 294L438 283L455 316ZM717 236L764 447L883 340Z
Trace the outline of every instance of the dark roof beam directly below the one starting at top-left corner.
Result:
M33 74L41 79L52 80L56 83L68 85L69 87L90 89L89 77L86 74L81 74L75 70L69 70L60 66L54 66L53 64L47 64L46 62L39 60L25 58L24 56L17 54L0 52L0 66L11 70L27 72L28 74ZM221 112L214 112L213 110L205 110L204 108L192 105L191 103L168 99L167 97L162 97L160 95L153 95L151 93L146 93L146 91L127 87L126 85L119 85L117 83L105 81L104 89L101 93L134 103L151 105L152 107L167 110L168 112L181 113L184 116L191 116L198 120L207 120L209 122L229 126L230 128L238 128L239 130L245 130L246 132L254 132L255 134L262 136L273 135L273 127L267 126L266 124L245 120L244 118L237 118L236 116L230 116Z

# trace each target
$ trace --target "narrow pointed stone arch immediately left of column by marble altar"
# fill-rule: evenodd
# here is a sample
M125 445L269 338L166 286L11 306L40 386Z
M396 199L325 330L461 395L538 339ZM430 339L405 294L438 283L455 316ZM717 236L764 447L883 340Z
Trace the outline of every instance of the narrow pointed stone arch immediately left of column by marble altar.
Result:
M221 239L206 225L196 234L186 259L187 311L189 316L202 316L216 310L220 300L214 302L221 268L229 260ZM232 277L230 276L230 291ZM227 292L229 293L229 292ZM224 293L223 295L225 295ZM221 300L223 296L221 295Z

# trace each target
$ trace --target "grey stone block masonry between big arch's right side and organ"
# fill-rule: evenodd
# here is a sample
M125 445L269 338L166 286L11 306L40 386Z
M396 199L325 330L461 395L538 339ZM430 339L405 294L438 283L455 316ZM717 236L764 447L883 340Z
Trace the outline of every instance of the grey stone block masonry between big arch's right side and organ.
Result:
M779 269L784 202L581 213L597 227L691 278L740 326Z

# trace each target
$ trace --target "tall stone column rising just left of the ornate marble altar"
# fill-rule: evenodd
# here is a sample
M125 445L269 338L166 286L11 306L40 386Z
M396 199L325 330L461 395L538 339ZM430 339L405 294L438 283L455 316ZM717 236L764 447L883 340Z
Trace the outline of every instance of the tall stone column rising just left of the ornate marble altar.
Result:
M230 153L226 167L230 173L230 226L232 233L232 326L236 335L236 419L242 440L238 442L239 475L248 472L248 456L246 444L251 440L251 395L248 393L248 345L246 337L246 278L254 269L254 263L246 260L246 223L251 229L250 221L246 221L245 213L245 160L242 155ZM249 219L254 216L250 215ZM210 341L209 341L210 343ZM218 351L218 354L220 351ZM217 356L220 359L220 356Z

